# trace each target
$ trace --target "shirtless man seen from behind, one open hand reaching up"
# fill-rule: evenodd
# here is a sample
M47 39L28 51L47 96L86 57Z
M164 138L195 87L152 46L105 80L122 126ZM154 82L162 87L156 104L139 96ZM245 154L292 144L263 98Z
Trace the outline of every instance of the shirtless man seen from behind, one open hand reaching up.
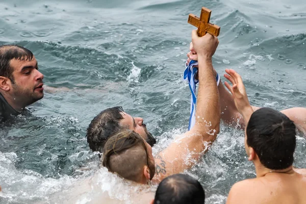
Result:
M245 150L256 169L256 179L236 183L228 194L227 204L302 204L306 203L306 169L294 169L296 127L285 114L271 108L253 111L240 75L226 69L233 86L237 110L243 116Z

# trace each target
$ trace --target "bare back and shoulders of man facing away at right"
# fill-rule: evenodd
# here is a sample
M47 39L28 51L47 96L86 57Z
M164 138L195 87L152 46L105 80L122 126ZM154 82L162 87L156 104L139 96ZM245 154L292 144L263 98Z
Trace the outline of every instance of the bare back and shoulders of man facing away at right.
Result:
M239 182L232 187L226 203L304 204L306 170L296 171L292 174L269 173L264 177Z

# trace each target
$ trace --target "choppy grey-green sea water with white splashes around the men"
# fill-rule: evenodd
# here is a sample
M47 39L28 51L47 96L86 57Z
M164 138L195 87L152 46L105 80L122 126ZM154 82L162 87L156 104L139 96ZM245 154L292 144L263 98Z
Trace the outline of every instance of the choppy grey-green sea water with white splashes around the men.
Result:
M86 143L86 128L105 108L120 105L143 117L160 140L154 152L185 132L190 94L182 72L194 29L187 18L198 15L201 6L213 11L211 21L221 27L214 56L219 73L237 70L253 105L306 106L301 0L3 0L0 43L31 49L45 84L68 90L45 93L28 115L1 126L0 202L61 203L53 193L90 178L98 159ZM297 167L306 167L305 143L298 137ZM204 160L187 172L205 187L207 203L225 203L235 182L255 176L245 158L243 132L222 125ZM80 193L79 203L102 191L130 200L120 179L103 170L95 176L94 190Z

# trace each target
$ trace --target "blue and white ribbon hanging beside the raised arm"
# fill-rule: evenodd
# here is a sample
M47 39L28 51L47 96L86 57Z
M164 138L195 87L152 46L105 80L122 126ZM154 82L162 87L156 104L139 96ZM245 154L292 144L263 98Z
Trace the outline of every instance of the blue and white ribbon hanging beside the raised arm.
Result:
M198 65L198 62L195 60L191 60L188 65L186 63L186 69L184 71L184 76L183 76L184 80L188 80L189 88L191 91L190 118L189 118L188 130L190 130L195 124L195 105L196 105L195 85L199 82L198 80L195 79L195 75L198 71L196 67L193 67L195 65ZM219 86L220 77L218 73L216 76L216 81L217 81L217 86Z

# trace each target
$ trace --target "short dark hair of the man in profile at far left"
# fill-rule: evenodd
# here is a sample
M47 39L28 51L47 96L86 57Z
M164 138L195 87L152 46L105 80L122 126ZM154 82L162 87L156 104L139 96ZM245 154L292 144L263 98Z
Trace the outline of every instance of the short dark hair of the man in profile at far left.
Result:
M33 53L19 45L0 45L0 76L10 79L12 84L15 84L14 69L10 66L12 59L31 61Z

